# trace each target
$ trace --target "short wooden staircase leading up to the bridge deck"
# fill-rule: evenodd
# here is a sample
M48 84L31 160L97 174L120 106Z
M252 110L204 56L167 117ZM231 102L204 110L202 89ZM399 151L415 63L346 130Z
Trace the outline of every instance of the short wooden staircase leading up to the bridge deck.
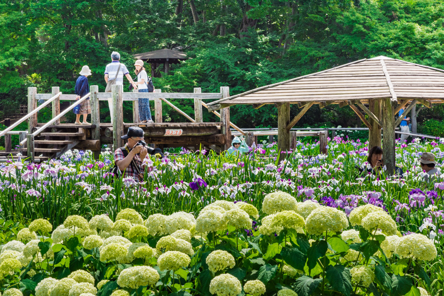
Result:
M37 126L43 126L38 124ZM34 139L34 158L45 161L50 158L59 158L68 150L73 149L87 137L87 128L91 125L52 125L48 126L44 132L37 135ZM19 151L24 157L28 157L27 148L20 148Z

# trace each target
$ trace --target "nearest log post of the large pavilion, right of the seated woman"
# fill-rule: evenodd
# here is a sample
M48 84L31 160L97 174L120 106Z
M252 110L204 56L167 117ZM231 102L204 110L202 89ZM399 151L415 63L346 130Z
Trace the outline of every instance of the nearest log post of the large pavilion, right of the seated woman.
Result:
M391 98L382 99L382 150L387 174L395 170L395 117Z

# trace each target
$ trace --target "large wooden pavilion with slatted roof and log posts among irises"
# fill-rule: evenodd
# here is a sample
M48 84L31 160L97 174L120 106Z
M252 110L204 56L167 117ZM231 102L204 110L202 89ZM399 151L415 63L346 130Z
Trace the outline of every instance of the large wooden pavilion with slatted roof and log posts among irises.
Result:
M431 107L432 103L443 103L443 100L444 70L378 56L219 99L209 103L208 110L236 104L249 104L255 109L275 104L278 110L277 145L284 151L289 150L290 129L310 107L349 106L369 127L370 147L381 146L382 128L385 164L387 170L393 172L395 127L402 120L395 119L399 110L409 104L404 111L408 114L416 103ZM291 120L290 104L298 104L302 109ZM368 115L368 120L360 109Z

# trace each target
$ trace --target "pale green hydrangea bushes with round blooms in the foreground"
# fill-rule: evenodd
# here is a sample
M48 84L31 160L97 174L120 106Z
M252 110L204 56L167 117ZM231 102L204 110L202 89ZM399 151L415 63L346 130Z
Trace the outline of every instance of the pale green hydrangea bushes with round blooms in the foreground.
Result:
M254 221L261 212L254 205L233 201L215 201L197 217L177 212L143 219L128 208L115 221L103 214L89 221L71 215L54 230L37 219L14 228L1 246L0 291L12 296L428 295L432 283L424 263L437 256L431 239L402 236L392 217L375 205L358 206L347 217L312 203L270 193L262 223Z

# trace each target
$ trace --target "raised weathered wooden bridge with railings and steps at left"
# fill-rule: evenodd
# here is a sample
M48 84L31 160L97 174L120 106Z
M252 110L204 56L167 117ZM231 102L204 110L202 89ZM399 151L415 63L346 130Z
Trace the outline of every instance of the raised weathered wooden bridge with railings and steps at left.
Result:
M110 93L99 92L99 87L93 85L90 92L75 101L76 95L65 95L59 91L59 87L52 87L51 94L37 94L36 87L28 87L28 114L20 118L7 129L0 131L0 136L5 139L11 134L19 134L22 155L31 160L44 161L49 158L58 158L71 149L91 150L94 158L99 158L102 144L112 144L113 150L124 145L120 138L127 133L130 126L139 126L145 132L145 141L152 145L164 147L190 147L198 149L206 146L213 150L225 150L231 145L230 126L245 135L245 132L230 122L230 108L221 109L216 114L220 122L203 122L202 106L206 103L202 99L222 99L229 97L229 87L221 87L220 93L201 93L200 88L194 88L194 93L162 93L156 90L154 93L123 92L123 87L113 85ZM71 111L77 104L88 97L91 100L91 124L76 125L60 123L60 118ZM154 123L139 123L138 98L154 100ZM45 102L37 107L38 100ZM194 118L180 110L167 99L194 99ZM60 111L60 100L74 101L67 109ZM111 123L100 122L99 101L111 100L113 104L113 118ZM131 101L133 104L133 123L123 122L123 102ZM185 116L190 122L176 123L163 122L162 103L168 104L175 111ZM37 113L42 108L52 104L52 119L46 123L37 122ZM12 131L21 122L28 120L27 131ZM0 156L11 152L1 152ZM17 156L12 155L12 158Z

